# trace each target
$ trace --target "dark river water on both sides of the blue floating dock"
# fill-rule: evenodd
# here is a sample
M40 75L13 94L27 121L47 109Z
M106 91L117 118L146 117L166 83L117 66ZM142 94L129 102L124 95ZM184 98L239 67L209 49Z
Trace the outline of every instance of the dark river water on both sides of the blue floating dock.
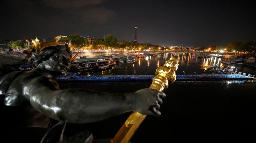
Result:
M170 54L149 56L90 75L154 75ZM177 74L211 74L209 66L220 58L179 55ZM208 66L209 65L209 66ZM224 65L227 66L227 65ZM238 72L255 74L255 68L237 66ZM62 83L61 89L85 88L102 92L135 92L151 82ZM147 116L131 139L132 143L256 142L256 83L236 81L174 82L164 91L160 117ZM104 102L104 101L102 101ZM90 124L67 124L66 135L83 130L94 138L113 138L130 113ZM72 132L71 132L72 131Z

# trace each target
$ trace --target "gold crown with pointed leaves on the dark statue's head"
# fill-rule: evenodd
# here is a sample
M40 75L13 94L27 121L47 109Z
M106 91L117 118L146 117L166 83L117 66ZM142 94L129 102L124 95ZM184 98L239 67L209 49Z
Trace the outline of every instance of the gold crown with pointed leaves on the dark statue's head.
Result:
M30 48L31 48L32 51L35 50L36 53L39 53L44 48L49 47L49 46L68 44L66 42L59 42L61 37L62 37L61 35L60 36L56 36L53 40L47 41L47 42L43 42L43 43L40 43L39 39L37 39L37 37L36 37L35 40L32 40L33 45ZM23 52L31 55L31 51L29 51L29 50L24 50ZM78 56L78 53L75 56L72 56L72 58L70 59L71 62L74 61L77 56Z

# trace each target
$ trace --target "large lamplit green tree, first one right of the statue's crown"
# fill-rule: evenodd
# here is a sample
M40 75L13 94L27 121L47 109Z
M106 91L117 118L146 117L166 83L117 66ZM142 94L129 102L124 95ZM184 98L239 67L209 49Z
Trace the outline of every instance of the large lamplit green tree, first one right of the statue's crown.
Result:
M71 49L79 50L89 45L88 40L80 35L69 35L67 39L70 40Z

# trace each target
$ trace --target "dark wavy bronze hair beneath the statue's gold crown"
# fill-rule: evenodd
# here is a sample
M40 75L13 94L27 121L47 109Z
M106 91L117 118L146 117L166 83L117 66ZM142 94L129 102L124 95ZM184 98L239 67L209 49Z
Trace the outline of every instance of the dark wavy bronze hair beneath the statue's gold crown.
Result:
M35 51L33 51L31 55L31 62L33 62L34 67L37 67L40 63L48 60L51 56L53 56L58 51L64 51L64 50L66 50L71 57L71 52L69 50L68 44L64 44L64 45L46 47L42 49L39 53L36 53Z

